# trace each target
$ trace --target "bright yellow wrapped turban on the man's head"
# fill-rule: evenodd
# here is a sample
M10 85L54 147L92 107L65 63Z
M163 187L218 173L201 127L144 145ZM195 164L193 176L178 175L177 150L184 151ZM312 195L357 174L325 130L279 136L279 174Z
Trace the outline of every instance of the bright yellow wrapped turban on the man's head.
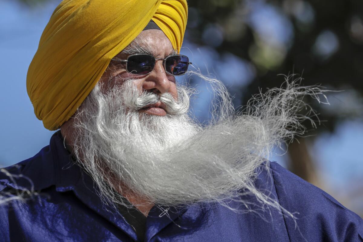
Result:
M30 63L26 89L38 119L58 129L85 100L111 58L152 19L180 50L186 0L63 0Z

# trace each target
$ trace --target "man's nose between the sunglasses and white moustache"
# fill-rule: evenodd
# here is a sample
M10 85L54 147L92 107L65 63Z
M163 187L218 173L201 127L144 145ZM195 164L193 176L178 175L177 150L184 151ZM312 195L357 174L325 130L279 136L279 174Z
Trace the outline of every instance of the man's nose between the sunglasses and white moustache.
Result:
M170 86L170 80L165 72L163 60L156 60L154 69L146 76L143 89L162 94L167 93Z

